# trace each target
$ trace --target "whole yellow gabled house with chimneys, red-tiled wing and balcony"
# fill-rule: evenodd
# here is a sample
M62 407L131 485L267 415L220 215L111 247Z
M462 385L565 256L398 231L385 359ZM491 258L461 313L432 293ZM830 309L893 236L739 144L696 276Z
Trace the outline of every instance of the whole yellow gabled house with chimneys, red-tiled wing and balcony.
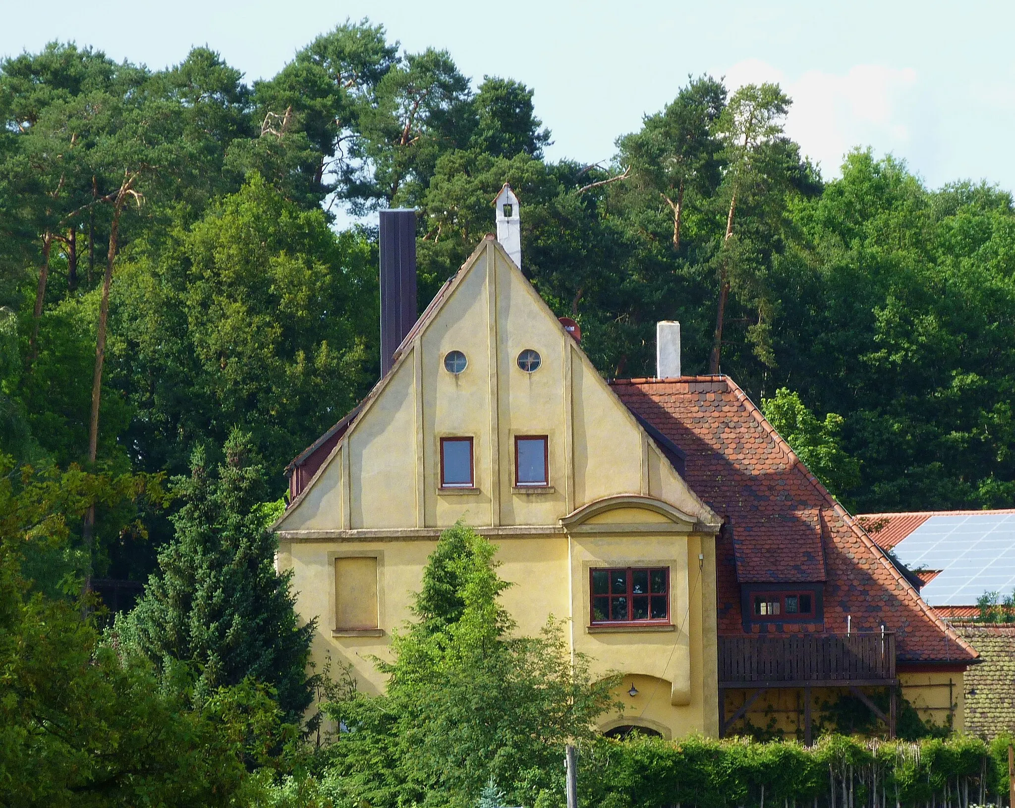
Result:
M461 520L499 547L519 631L562 618L623 674L603 732L810 742L812 710L845 695L892 734L899 688L961 731L976 654L911 576L732 380L681 376L678 324L659 324L657 378L607 383L518 268L506 187L497 204L512 254L487 237L418 320L415 214L382 214L383 378L293 461L275 526L317 662L379 692L371 658Z

